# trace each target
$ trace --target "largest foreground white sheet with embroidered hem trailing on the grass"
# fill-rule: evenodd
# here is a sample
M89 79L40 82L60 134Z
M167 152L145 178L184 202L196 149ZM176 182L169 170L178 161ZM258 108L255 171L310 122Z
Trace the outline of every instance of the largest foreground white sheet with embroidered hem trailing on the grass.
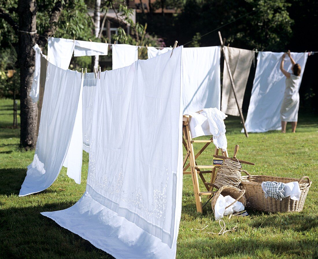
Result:
M165 53L101 73L86 192L71 208L42 213L115 258L176 256L183 176L181 60L179 47L171 58Z

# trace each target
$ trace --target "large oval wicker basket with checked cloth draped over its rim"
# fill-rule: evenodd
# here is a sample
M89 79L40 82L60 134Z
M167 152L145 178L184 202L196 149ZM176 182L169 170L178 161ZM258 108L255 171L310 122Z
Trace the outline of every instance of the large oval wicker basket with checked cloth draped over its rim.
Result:
M242 176L239 188L245 190L246 208L268 211L268 212L292 212L302 211L305 200L308 194L311 181L308 176L303 176L300 179L275 177L268 175L251 175L247 171L242 170L246 176ZM294 201L290 197L276 200L275 198L268 197L265 199L265 193L262 189L262 182L276 181L276 182L299 182L301 195L299 201Z

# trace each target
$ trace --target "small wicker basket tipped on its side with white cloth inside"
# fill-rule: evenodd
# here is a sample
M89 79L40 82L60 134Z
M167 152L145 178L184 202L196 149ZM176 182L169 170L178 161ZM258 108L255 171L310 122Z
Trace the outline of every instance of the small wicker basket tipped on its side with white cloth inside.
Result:
M223 196L227 196L230 195L233 199L235 199L235 201L233 201L229 206L225 207L225 208L229 208L230 206L232 206L236 201L240 201L243 203L244 207L246 205L246 199L245 199L245 190L240 190L238 187L234 187L231 185L224 185L221 188L219 188L212 197L211 200L211 205L212 205L212 209L213 209L213 213L214 212L214 206L217 203L218 197L220 196L220 194L222 194Z

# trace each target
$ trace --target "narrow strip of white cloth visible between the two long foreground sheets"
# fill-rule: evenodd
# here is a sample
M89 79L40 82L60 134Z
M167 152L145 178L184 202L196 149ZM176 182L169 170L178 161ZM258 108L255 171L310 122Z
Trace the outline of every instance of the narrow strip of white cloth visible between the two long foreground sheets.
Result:
M100 73L104 76L104 73ZM89 153L89 141L91 139L92 121L93 121L93 105L95 101L95 89L97 81L94 73L85 73L83 83L83 150Z

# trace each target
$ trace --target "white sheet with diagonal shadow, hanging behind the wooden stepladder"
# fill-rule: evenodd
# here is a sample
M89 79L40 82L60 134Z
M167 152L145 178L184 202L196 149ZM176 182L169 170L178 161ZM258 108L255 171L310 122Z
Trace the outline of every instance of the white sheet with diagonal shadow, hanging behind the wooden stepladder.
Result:
M221 105L220 47L183 49L183 114Z

